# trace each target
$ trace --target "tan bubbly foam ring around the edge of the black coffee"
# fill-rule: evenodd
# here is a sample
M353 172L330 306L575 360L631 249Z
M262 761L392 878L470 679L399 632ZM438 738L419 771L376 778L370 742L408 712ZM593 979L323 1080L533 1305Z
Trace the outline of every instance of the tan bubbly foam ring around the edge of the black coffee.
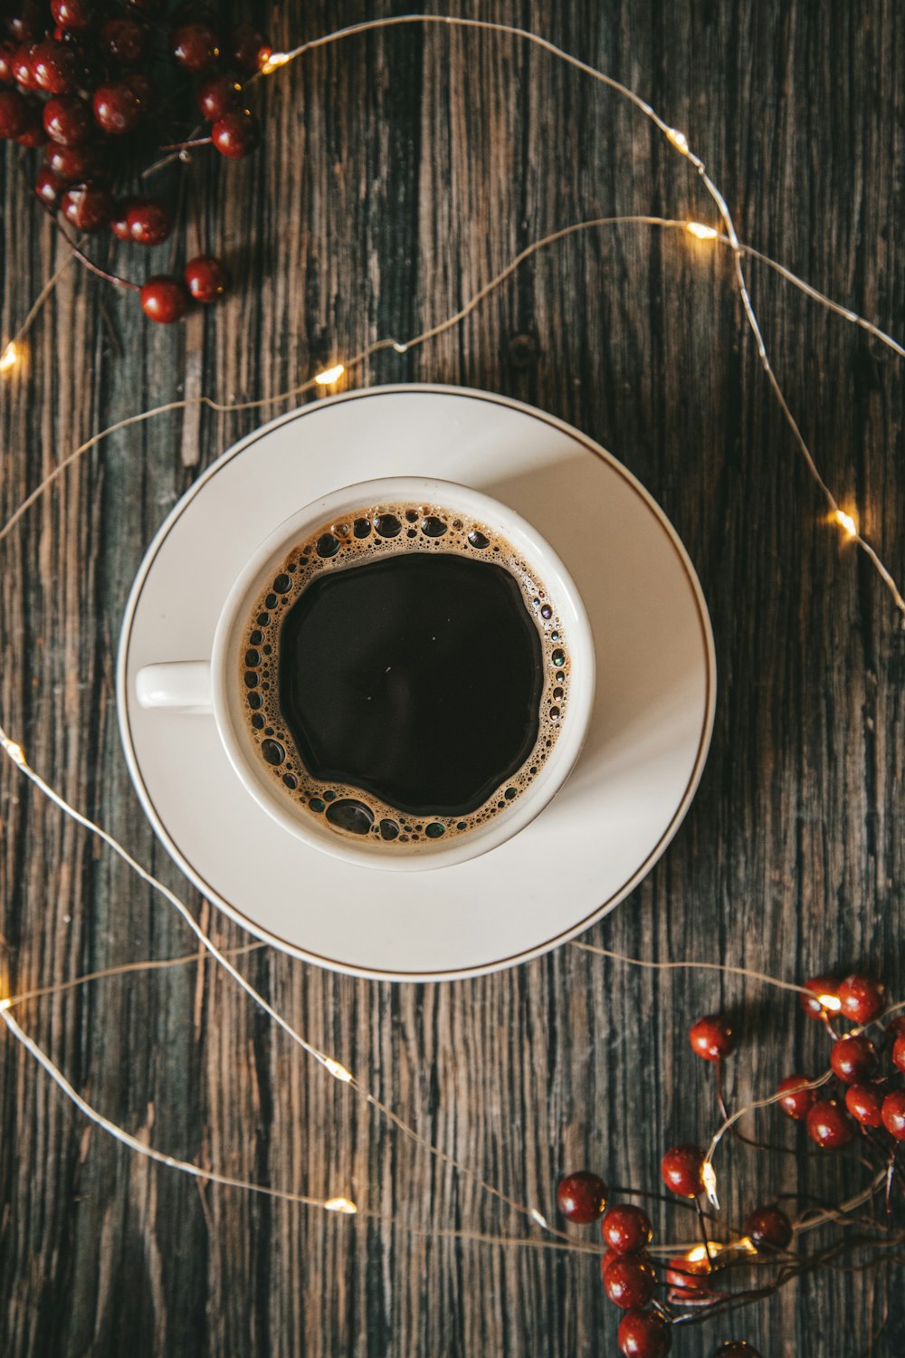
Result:
M536 739L518 767L464 813L400 809L357 782L315 775L278 701L284 625L305 591L336 572L410 554L457 555L501 566L518 587L540 642ZM499 534L437 504L362 505L342 520L320 524L262 583L242 633L237 663L247 736L280 794L334 834L358 842L366 838L393 851L400 845L448 841L503 815L543 769L569 706L569 641L543 581Z

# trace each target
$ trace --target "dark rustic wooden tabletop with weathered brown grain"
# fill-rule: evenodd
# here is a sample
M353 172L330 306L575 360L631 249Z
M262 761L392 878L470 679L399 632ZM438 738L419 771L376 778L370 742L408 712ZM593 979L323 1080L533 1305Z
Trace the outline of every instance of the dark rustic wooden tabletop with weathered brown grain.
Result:
M273 35L289 43L407 7L278 8ZM635 86L688 132L745 240L905 331L902 5L452 8L532 27ZM3 517L94 430L183 391L267 397L377 335L422 329L558 225L714 216L688 164L635 110L513 38L354 38L267 81L259 99L262 152L198 160L235 293L182 327L153 327L132 296L71 268L27 367L0 392ZM0 159L4 337L64 258L16 159L9 148ZM141 274L147 257L125 266ZM750 273L820 466L901 577L901 364L763 268ZM567 240L461 330L381 356L362 380L475 386L574 422L650 488L700 573L720 679L710 762L665 858L588 940L787 979L858 964L905 995L901 619L866 558L822 523L744 331L729 253L638 227ZM183 894L119 750L119 621L176 498L280 409L174 413L117 435L0 546L0 720L34 767ZM8 762L0 777L5 987L193 949L166 904ZM218 942L248 941L186 899ZM729 1006L738 1020L733 1101L818 1062L817 1025L794 997L716 972L628 970L574 947L436 986L334 976L269 949L240 966L400 1115L551 1217L564 1168L657 1187L663 1149L715 1127L711 1071L687 1043L697 1014ZM210 966L16 1012L77 1089L155 1146L300 1192L350 1192L398 1225L199 1188L149 1165L91 1130L0 1033L4 1354L616 1351L594 1259L411 1236L407 1226L522 1226L300 1059ZM758 1126L796 1143L779 1115ZM725 1164L735 1219L764 1196L839 1195L862 1175L845 1156L733 1150ZM680 1214L655 1209L661 1238L676 1238ZM738 1335L769 1358L901 1354L901 1296L894 1270L822 1272L677 1335L673 1353L708 1355Z

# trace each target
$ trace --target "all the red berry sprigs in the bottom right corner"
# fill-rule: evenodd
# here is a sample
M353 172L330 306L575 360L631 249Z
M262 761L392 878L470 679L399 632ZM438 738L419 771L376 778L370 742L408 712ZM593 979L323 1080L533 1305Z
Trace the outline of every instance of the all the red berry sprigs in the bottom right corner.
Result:
M777 1090L780 1108L790 1118L806 1122L807 1133L818 1146L844 1146L863 1131L866 1153L883 1164L891 1181L896 1143L905 1141L905 1086L900 1080L905 1074L905 1014L886 1024L881 1046L891 1070L883 1071L878 1044L862 1031L886 1008L886 994L879 982L860 974L841 982L832 976L814 976L803 987L802 1008L810 1017L821 1020L832 1036L830 1069L840 1086L836 1090L830 1088L828 1096L821 1088L818 1097L815 1089L807 1088L807 1077L787 1076ZM849 1032L839 1032L833 1027L839 1019L855 1027ZM722 1062L734 1050L733 1028L723 1014L706 1014L692 1024L688 1038L692 1051L715 1067L716 1099L726 1119ZM887 1134L885 1143L874 1135L881 1128ZM802 1263L798 1255L790 1253L795 1229L775 1202L756 1207L742 1230L731 1233L729 1243L710 1240L707 1217L699 1202L704 1188L711 1188L706 1173L707 1157L697 1145L672 1146L662 1157L665 1186L677 1198L693 1205L701 1229L700 1245L678 1256L674 1247L669 1251L663 1248L666 1262L661 1266L662 1278L649 1253L653 1226L640 1207L630 1203L606 1207L606 1186L598 1175L586 1169L566 1175L559 1181L558 1205L569 1221L600 1221L606 1247L600 1262L604 1291L625 1312L617 1340L624 1355L662 1358L670 1351L673 1324L680 1319L682 1323L704 1319L708 1310L722 1315L739 1300L763 1296L763 1287L739 1296L738 1291L718 1291L714 1286L719 1271L727 1274L730 1266L750 1263L752 1255L760 1255L763 1264L773 1256L780 1268L777 1277L788 1277L790 1268L795 1272L813 1264L813 1260ZM898 1238L896 1236L893 1243ZM834 1258L834 1251L828 1258ZM665 1296L658 1298L655 1293L661 1285ZM745 1340L727 1340L714 1358L719 1355L757 1358L757 1351Z

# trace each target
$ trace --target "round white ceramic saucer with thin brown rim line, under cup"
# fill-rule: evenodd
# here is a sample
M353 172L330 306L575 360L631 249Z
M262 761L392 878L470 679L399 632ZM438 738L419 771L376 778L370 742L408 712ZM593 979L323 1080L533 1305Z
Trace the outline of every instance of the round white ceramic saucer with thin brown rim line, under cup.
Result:
M134 676L210 655L229 587L277 523L338 486L429 475L475 486L547 538L588 608L597 698L582 755L513 839L430 873L372 872L288 835L244 790L213 720L142 709ZM714 721L697 577L662 511L582 433L457 387L377 387L274 420L224 454L151 545L122 625L119 728L166 849L277 948L396 980L474 976L564 942L650 870L685 815Z

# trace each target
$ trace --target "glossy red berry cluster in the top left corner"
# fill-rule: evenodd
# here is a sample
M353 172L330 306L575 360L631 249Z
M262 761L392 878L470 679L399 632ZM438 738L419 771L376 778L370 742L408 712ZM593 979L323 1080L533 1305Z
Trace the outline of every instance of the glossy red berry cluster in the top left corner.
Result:
M34 175L41 205L79 232L109 227L138 246L161 244L172 215L160 198L129 191L161 151L212 144L247 156L261 140L243 81L270 48L252 23L221 23L204 0L16 0L0 5L0 139L43 147ZM201 121L199 121L201 120ZM102 272L102 270L98 270ZM178 320L190 299L229 287L201 253L183 277L156 274L137 288L152 320Z

